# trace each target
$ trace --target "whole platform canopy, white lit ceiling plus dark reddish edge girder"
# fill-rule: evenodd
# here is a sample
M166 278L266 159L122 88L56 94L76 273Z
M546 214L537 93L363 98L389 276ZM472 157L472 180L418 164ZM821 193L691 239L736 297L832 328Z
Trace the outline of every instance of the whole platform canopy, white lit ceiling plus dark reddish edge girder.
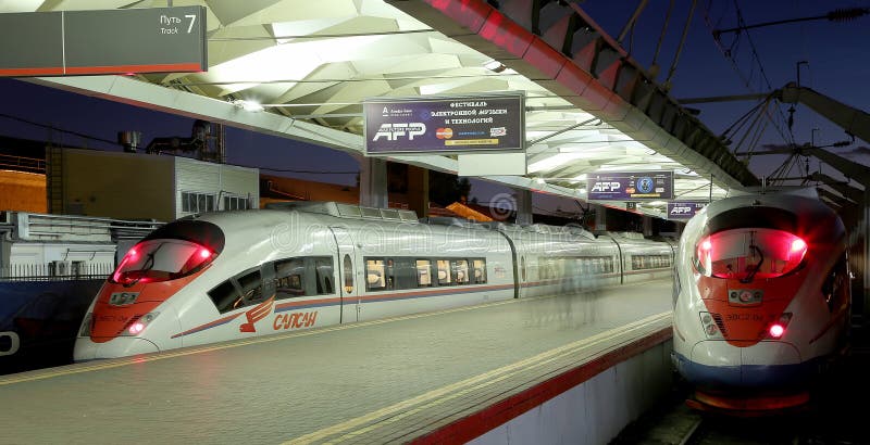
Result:
M584 200L585 175L602 170L673 170L676 199L688 201L757 182L573 3L20 0L0 12L167 3L206 7L208 72L30 80L357 155L366 98L522 91L527 175L484 179ZM251 102L264 110L246 110ZM390 158L458 170L449 155Z

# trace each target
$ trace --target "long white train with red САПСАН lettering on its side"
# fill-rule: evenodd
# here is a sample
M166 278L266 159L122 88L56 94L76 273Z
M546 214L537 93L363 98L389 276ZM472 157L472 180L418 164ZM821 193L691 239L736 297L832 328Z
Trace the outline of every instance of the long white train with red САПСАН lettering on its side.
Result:
M339 203L203 214L127 252L87 310L74 358L669 277L672 260L671 245L642 237L425 224Z

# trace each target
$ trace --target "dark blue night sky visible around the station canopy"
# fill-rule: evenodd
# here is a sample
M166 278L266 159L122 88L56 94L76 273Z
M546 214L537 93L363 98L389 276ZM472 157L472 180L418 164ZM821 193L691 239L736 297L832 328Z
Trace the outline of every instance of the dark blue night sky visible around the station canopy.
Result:
M581 7L616 38L637 3L627 0L587 0L582 2ZM651 65L669 3L670 1L663 0L650 1L634 31L623 40L623 47L626 50L631 49L632 56L642 66ZM675 3L676 8L672 12L658 56L661 69L657 80L660 82L668 76L691 1L676 0ZM797 77L797 63L807 61L808 63L799 68L801 85L858 109L869 110L870 88L866 82L870 78L870 62L868 62L870 16L845 23L812 21L758 28L739 35L722 35L721 47L730 51L733 64L717 47L711 35L711 28L736 26L737 9L746 24L755 24L823 15L835 9L846 8L870 8L870 1L699 0L686 46L671 78L673 86L671 96L684 99L768 92L770 91L768 84L775 89L794 81ZM753 53L753 46L755 53L758 54L757 58ZM761 67L766 76L761 76ZM741 80L741 76L747 79L749 88ZM142 143L147 144L156 137L189 136L194 122L187 117L92 99L15 79L0 78L0 91L3 99L0 101L0 136L53 140L67 145L101 150L121 150L119 145L111 143L115 141L119 130L141 131ZM726 102L691 106L701 111L699 118L713 132L721 134L753 105L754 102ZM783 116L787 115L787 105L781 107ZM841 128L816 115L806 106L796 107L794 120L794 139L799 144L809 142L813 136L817 144L847 139ZM784 120L782 126L785 128ZM46 127L80 132L96 139ZM815 135L813 128L818 129ZM760 144L783 144L786 139L773 129L768 129ZM865 141L858 140L836 151L855 161L870 164L870 157L862 154L868 151L865 145L867 145ZM261 168L270 166L319 171L359 169L356 160L335 150L231 127L227 127L227 157L232 164ZM782 161L781 156L759 156L754 158L750 167L759 176L769 175ZM812 160L811 171L818 168L818 162ZM271 173L265 169L263 171ZM832 169L829 167L824 173L831 174ZM348 185L356 180L356 175L352 174L279 174ZM501 191L505 189L475 182L472 195L486 202L494 193ZM567 211L576 209L576 205L568 200L536 198L535 205L547 209L560 205Z

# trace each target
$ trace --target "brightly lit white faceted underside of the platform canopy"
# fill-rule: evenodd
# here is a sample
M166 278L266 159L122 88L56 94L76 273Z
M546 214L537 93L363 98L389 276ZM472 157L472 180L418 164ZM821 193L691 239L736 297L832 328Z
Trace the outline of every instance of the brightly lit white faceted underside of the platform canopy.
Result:
M366 98L522 91L527 175L484 179L585 200L584 175L673 170L676 199L686 201L722 198L726 188L755 180L733 160L723 167L721 148L704 152L688 147L616 93L601 103L589 102L424 1L171 3L206 7L208 72L32 80L353 154L363 153L362 101ZM0 2L0 12L166 5L165 0L21 0ZM245 110L243 105L249 102L264 110ZM616 122L609 112L614 107L625 110ZM693 125L709 134L697 119ZM456 157L449 155L391 158L458 171ZM664 208L663 202L638 205L638 211L656 216L663 216Z

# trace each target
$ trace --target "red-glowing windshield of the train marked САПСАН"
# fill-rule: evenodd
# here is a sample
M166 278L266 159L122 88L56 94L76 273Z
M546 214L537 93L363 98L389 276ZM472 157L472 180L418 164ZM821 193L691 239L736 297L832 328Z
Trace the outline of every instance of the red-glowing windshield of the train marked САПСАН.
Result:
M110 281L133 285L186 277L211 263L223 246L223 232L211 223L171 223L133 246Z

